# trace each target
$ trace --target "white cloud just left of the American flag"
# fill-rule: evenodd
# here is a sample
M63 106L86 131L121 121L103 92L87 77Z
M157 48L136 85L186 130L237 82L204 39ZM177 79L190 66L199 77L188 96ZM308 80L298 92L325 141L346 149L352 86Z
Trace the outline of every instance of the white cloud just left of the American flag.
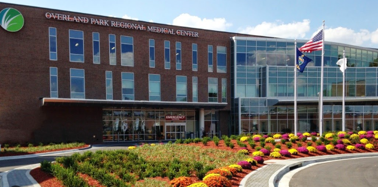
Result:
M240 33L250 35L299 39L304 38L306 32L310 30L310 20L304 19L302 22L293 22L288 24L285 24L279 20L271 23L264 21L255 27L247 27L239 30Z

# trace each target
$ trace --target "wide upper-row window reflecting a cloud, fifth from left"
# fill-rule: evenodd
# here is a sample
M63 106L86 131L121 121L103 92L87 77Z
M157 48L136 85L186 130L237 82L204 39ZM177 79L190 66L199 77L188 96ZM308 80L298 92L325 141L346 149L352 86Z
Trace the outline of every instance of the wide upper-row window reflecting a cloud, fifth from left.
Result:
M134 66L133 38L121 36L121 65Z

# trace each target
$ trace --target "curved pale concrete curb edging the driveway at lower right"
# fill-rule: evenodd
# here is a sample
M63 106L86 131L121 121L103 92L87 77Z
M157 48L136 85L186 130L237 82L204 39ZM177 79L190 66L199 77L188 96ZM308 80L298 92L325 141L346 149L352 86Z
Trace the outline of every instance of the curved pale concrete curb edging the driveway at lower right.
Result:
M296 169L296 168L299 168L299 167L302 167L302 166L312 164L312 163L326 162L326 161L333 161L333 160L340 160L340 159L349 159L349 158L375 157L375 156L378 156L377 152L373 152L373 153L349 153L348 155L339 155L339 156L335 156L335 157L326 157L326 158L314 158L314 159L294 162L294 163L286 165L283 168L276 171L269 178L269 187L277 187L278 186L277 181L282 176L284 176L286 173L288 173L289 171Z

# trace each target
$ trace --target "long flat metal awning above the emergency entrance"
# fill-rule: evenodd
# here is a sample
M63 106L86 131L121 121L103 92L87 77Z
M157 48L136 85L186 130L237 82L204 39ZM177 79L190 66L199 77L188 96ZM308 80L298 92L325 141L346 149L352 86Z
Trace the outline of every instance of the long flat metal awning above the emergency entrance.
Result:
M41 98L41 106L145 107L145 108L203 108L223 109L227 103L169 102L145 100L102 100L74 98Z

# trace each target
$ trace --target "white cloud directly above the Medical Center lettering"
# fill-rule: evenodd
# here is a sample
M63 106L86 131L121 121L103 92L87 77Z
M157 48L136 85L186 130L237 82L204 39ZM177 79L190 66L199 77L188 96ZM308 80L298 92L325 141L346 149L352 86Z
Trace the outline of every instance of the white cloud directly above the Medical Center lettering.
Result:
M198 16L184 13L174 18L172 25L225 31L228 27L232 26L232 23L227 23L225 18L201 19Z

